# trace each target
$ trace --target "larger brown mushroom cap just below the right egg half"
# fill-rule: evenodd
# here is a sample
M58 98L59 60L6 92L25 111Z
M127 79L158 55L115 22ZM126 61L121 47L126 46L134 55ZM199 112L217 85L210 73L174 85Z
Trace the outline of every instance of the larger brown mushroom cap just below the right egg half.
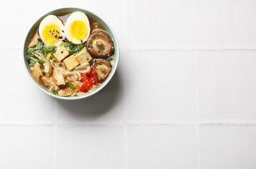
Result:
M88 53L95 58L108 58L114 54L114 43L108 32L93 31L86 41Z

